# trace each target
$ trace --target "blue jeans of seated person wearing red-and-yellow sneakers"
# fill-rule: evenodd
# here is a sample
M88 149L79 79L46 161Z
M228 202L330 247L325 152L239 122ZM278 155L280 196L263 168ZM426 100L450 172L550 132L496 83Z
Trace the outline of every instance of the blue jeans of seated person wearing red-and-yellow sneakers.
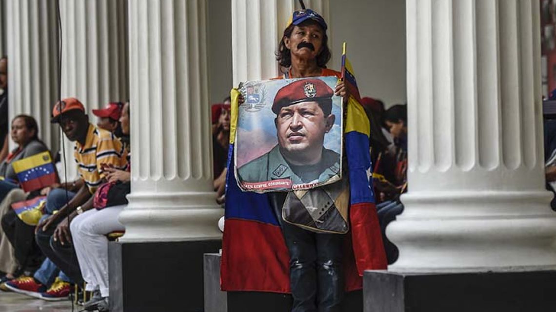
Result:
M67 192L67 199L71 200L76 193L73 192ZM53 189L51 190L50 193L48 193L48 197L46 199L46 213L45 215L43 215L43 217L41 218L41 222L42 220L48 218L51 216L51 214L58 210L59 208L61 208L63 205L65 205L67 202L66 200L66 190L64 189ZM47 255L48 256L48 255ZM50 285L52 284L52 282L54 281L54 278L56 278L56 276L58 276L58 278L60 278L63 281L67 281L69 283L69 281L71 279L68 278L68 276L66 274L64 274L60 269L58 269L58 267L56 266L56 264L54 264L50 259L46 258L44 259L41 268L39 268L35 274L33 275L33 277L40 281L42 284L44 285Z

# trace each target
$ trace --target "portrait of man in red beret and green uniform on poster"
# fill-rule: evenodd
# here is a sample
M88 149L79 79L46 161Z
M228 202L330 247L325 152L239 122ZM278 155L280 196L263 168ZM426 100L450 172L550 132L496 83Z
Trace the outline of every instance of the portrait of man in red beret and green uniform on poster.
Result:
M333 95L320 78L297 79L277 90L271 105L274 120L269 120L277 143L237 169L244 188L309 189L337 180L341 150L325 147L326 136L341 122L332 113Z

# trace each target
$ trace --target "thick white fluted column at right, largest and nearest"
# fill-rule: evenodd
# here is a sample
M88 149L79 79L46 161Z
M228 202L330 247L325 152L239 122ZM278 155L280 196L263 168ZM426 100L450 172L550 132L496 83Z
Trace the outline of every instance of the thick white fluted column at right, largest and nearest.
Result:
M539 2L409 0L409 193L392 271L556 269Z

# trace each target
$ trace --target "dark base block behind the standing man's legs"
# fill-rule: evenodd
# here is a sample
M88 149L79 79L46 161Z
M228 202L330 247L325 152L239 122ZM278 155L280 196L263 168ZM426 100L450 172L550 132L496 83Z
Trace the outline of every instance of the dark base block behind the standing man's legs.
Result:
M289 312L289 294L260 291L221 291L219 254L205 255L205 312ZM346 294L342 312L362 312L363 291Z

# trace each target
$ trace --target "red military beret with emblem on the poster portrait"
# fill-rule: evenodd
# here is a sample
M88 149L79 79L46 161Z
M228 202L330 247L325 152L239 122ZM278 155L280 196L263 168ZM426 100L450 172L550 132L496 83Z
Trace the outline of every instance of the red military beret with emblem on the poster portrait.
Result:
M334 95L334 91L320 79L296 80L278 90L274 103L272 103L272 112L277 115L285 106L302 102L317 102L322 112L329 115L332 110L332 95Z

